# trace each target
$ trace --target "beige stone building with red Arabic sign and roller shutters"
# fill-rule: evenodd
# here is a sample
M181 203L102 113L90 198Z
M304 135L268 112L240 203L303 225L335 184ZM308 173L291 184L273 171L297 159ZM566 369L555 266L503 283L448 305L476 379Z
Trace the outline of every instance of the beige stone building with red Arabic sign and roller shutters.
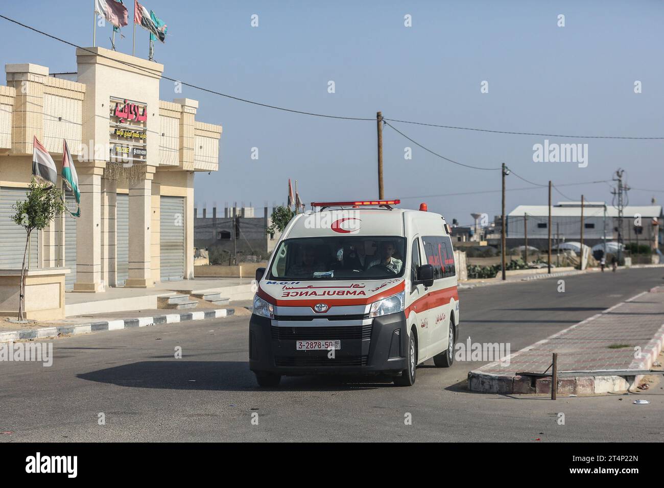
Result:
M5 66L0 270L21 267L25 230L9 215L25 198L36 135L58 173L66 139L81 201L80 218L36 233L31 269L69 268L66 289L88 292L193 279L194 174L217 170L222 127L196 120L196 100L160 100L161 64L100 47L77 49L76 62L66 75Z

